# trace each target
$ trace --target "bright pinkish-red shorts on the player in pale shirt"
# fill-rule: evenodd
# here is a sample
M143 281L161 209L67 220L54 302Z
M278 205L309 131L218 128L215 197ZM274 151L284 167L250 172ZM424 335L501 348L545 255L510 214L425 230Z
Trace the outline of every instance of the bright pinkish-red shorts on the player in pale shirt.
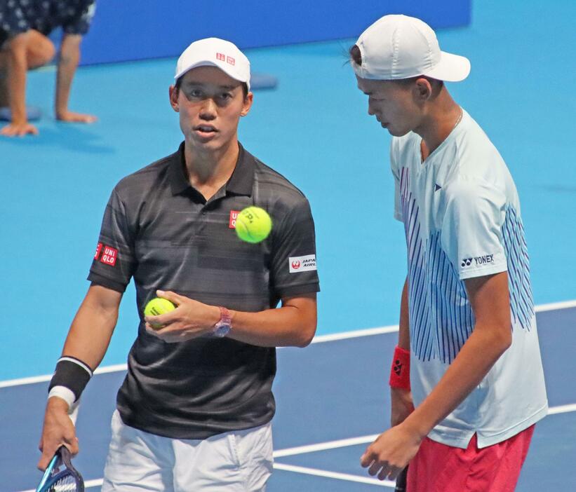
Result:
M506 441L467 449L425 438L408 468L407 492L514 492L534 425Z

